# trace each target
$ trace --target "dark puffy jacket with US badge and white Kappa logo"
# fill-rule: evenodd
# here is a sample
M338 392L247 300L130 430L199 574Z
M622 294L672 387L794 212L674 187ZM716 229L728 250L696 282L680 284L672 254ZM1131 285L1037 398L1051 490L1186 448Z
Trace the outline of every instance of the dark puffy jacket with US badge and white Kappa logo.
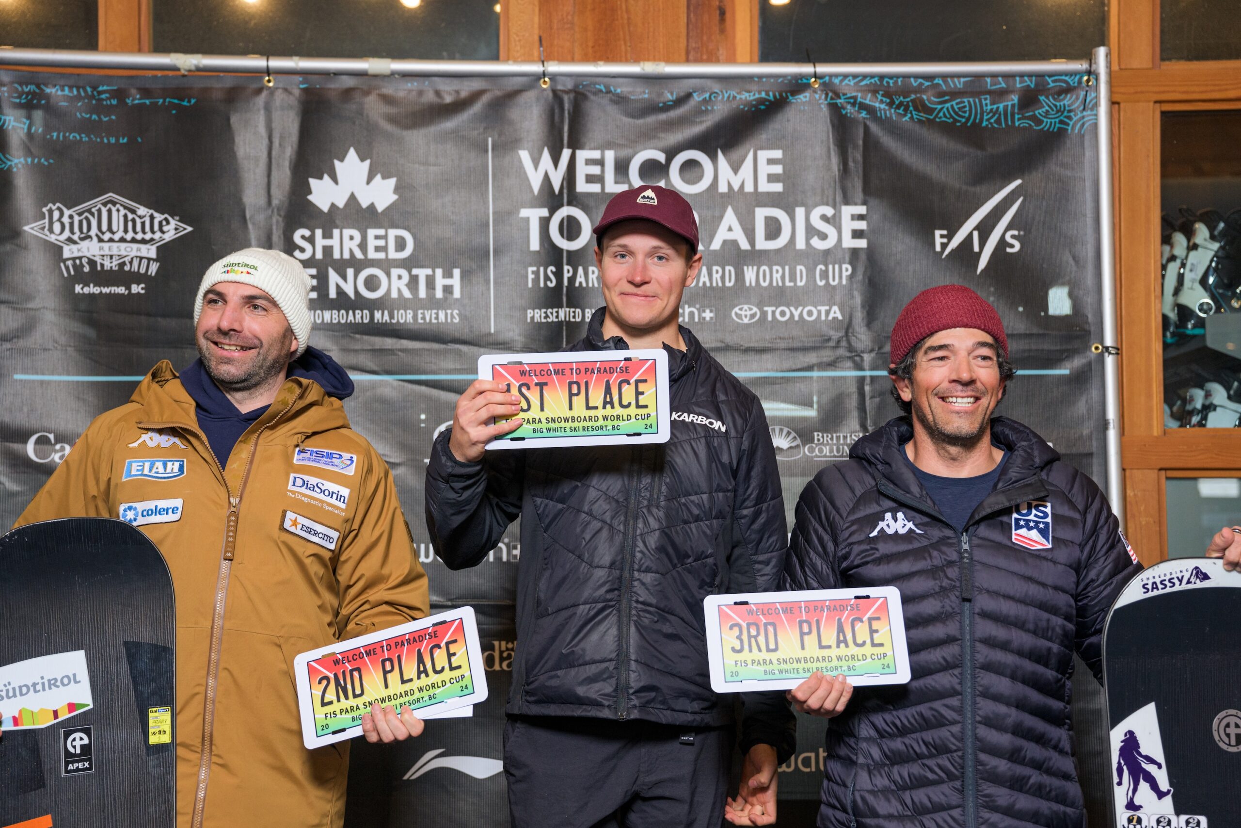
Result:
M901 417L861 438L797 505L783 588L898 587L912 669L830 721L819 826L1080 828L1072 655L1100 675L1108 607L1140 566L1098 487L1004 417L992 439L1010 454L958 534L902 459L912 433ZM1050 549L1014 541L1030 502Z

